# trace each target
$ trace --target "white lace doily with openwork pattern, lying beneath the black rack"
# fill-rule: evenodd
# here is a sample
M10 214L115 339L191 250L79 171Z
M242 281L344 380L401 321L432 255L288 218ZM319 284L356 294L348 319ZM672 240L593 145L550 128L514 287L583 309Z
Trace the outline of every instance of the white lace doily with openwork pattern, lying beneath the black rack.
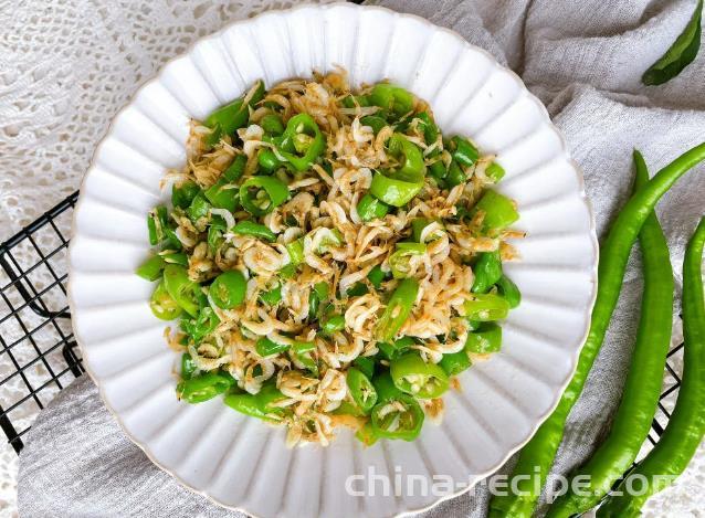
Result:
M297 2L0 1L0 241L77 189L114 114L167 60L232 20L293 3ZM7 282L0 275L0 284ZM10 341L20 336L19 328L2 332ZM31 349L14 352L21 362L35 356ZM0 377L12 370L0 357ZM31 382L45 376L41 366L28 374ZM15 378L0 388L0 405L17 401L19 383ZM665 405L672 408L673 401ZM36 413L35 406L23 409L13 414L19 429ZM702 446L687 472L652 498L644 515L704 516L704 458ZM0 441L0 517L17 516L17 455Z

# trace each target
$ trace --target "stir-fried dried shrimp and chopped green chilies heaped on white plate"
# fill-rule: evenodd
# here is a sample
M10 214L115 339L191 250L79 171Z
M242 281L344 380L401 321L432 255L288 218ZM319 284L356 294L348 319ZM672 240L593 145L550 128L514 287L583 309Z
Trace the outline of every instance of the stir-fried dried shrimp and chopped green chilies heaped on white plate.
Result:
M177 395L224 394L328 444L411 441L472 361L499 350L519 292L503 273L515 203L504 169L429 105L343 71L257 82L191 123L171 205L147 218L158 251L137 273L182 352Z

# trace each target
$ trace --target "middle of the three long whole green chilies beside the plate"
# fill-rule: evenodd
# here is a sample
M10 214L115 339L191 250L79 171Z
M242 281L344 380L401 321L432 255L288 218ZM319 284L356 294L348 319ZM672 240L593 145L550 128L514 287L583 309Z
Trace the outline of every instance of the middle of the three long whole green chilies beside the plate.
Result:
M641 154L634 150L636 178L634 191L649 181L649 172ZM609 437L574 476L587 476L586 491L568 493L551 505L550 517L580 514L596 506L632 465L651 430L661 380L671 345L673 319L673 271L669 245L655 212L652 212L639 233L643 257L644 292L636 342L622 392L622 401L612 421ZM623 515L622 515L623 516Z

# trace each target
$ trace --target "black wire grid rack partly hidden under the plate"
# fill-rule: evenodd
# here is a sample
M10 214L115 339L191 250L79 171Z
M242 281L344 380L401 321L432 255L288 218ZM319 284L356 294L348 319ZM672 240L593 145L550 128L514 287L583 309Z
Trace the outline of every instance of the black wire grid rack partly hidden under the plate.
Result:
M39 410L84 373L66 299L66 250L77 197L74 192L0 244L0 397L6 401L0 427L18 454ZM683 343L669 352L664 392L649 434L652 445L671 416L682 355Z

